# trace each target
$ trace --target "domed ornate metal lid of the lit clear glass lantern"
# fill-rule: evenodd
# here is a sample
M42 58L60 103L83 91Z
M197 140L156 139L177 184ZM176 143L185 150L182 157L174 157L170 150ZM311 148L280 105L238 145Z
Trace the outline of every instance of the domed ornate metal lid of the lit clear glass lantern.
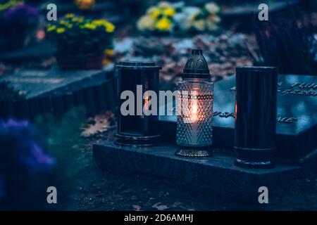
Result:
M201 49L192 49L192 55L183 70L182 79L192 78L210 79L208 64Z

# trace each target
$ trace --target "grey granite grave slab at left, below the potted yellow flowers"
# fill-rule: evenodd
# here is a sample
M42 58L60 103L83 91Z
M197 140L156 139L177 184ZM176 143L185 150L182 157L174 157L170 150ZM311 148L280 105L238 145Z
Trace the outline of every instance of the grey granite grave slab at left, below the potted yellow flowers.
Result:
M0 117L4 119L32 120L46 113L62 115L73 105L85 105L88 115L116 108L117 77L113 65L104 70L22 70L1 77L0 82L3 81L25 95L21 101L0 102Z

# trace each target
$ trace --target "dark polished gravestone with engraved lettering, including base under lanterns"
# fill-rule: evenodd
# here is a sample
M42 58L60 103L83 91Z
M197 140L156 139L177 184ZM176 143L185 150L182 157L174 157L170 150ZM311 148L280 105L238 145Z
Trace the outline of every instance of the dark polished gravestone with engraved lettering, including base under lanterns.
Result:
M317 77L279 75L278 77L278 155L298 160L316 149ZM173 103L169 103L172 104ZM232 151L235 126L235 76L216 82L214 89L212 157L184 158L175 155L176 117L160 116L157 123L163 136L159 146L135 148L116 146L112 141L96 143L94 157L102 169L120 173L147 173L208 186L218 193L235 193L253 198L259 186L270 190L297 179L316 168L316 158L302 166L278 160L273 169L240 168L234 165Z

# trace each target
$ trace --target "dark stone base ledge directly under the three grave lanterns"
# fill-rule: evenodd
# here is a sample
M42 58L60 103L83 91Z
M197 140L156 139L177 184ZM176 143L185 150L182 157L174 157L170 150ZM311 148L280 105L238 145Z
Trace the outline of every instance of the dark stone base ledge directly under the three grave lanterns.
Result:
M175 155L177 149L168 143L137 148L103 142L93 145L93 154L101 168L111 172L153 174L247 197L259 195L260 186L276 188L303 172L299 166L280 163L273 169L240 168L233 164L233 155L219 152L208 158L183 158Z

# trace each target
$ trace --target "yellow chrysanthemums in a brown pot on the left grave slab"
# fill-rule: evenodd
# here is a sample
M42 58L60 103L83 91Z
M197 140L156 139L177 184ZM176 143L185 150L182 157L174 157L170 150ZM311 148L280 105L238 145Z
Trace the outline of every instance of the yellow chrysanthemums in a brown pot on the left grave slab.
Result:
M113 48L115 26L107 20L88 20L73 14L50 24L47 37L57 47L61 69L100 69L105 49Z

